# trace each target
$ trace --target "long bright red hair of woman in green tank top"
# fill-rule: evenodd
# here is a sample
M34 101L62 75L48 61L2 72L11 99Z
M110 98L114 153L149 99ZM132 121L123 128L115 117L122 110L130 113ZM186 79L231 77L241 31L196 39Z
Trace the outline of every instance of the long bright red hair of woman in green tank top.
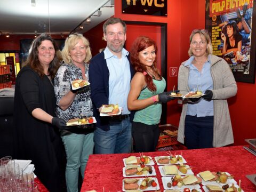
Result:
M155 53L157 54L156 42L153 39L146 37L146 36L139 36L133 42L130 54L131 54L132 66L136 72L143 73L144 71L147 71L146 66L143 65L139 60L139 52L147 49L148 47L150 47L152 45L154 45ZM151 66L151 68L153 69L153 71L155 71L158 74L159 77L161 77L159 75L159 71L156 67L156 58L155 58L155 61L153 62L153 65ZM161 77L161 79L162 79L162 77ZM146 74L145 81L147 83L148 89L152 92L155 92L156 85L153 83L153 78L150 75Z

